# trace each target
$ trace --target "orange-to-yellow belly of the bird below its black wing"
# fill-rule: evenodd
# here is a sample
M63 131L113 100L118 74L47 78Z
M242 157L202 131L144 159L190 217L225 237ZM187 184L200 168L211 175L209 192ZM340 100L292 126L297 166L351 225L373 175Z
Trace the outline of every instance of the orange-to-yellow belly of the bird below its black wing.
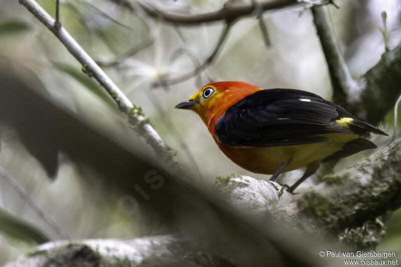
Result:
M346 142L358 138L356 134L324 134L331 141L272 147L230 147L220 149L236 164L255 173L273 174L285 162L291 160L283 172L299 169L321 161L342 149Z

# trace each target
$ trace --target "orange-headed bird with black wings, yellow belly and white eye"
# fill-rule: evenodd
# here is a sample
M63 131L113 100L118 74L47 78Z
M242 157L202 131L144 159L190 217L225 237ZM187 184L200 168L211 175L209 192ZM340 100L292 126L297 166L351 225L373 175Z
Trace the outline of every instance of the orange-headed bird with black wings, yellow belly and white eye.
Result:
M286 187L291 193L320 163L376 148L364 138L369 134L388 136L314 93L241 81L207 84L175 108L194 111L228 158L248 171L272 174L269 181L306 167Z

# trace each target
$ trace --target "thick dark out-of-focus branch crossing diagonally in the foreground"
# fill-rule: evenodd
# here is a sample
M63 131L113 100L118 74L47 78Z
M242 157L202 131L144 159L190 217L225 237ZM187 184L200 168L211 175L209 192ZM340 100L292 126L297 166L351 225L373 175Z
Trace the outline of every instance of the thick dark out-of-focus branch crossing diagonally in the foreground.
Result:
M181 172L181 175L172 176L167 168L156 166L143 157L141 151L135 151L135 146L121 132L113 136L106 134L98 125L84 122L76 113L44 96L43 91L25 84L14 74L6 70L0 72L0 81L0 93L4 96L0 98L0 120L20 135L29 136L36 145L57 148L72 161L96 171L105 185L118 187L124 195L132 196L140 206L138 218L144 218L147 226L155 227L156 231L179 232L184 238L193 240L196 247L203 248L200 251L211 251L237 265L322 265L315 253L318 250L312 251L316 243L301 238L291 229L283 231L283 224L273 224L271 218L243 216L206 192L204 187L190 182L189 175ZM20 105L19 109L15 108L16 103ZM34 118L43 120L37 123ZM157 175L151 177L151 173ZM148 175L160 180L149 184ZM161 228L160 223L163 223ZM93 258L93 253L85 251L75 253L73 250L64 255ZM129 252L124 256L130 256ZM151 252L157 254L158 250L154 248ZM195 261L192 265L196 264L199 263ZM163 264L153 264L159 265Z

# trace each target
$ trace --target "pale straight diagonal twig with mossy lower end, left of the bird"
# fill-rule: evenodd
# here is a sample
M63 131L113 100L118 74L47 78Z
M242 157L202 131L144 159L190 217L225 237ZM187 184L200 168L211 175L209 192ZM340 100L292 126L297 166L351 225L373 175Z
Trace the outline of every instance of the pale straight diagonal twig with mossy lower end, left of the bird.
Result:
M20 4L28 9L39 21L41 21L60 42L68 49L83 66L83 70L94 77L100 85L109 93L117 103L119 109L129 118L129 123L136 130L143 134L146 142L153 148L158 155L170 154L170 148L164 144L159 134L153 127L146 122L144 114L140 109L124 95L116 84L107 76L107 74L95 63L95 61L82 49L82 47L71 37L63 28L55 27L53 18L34 0L19 0ZM172 157L172 156L171 156ZM175 160L175 159L174 159Z

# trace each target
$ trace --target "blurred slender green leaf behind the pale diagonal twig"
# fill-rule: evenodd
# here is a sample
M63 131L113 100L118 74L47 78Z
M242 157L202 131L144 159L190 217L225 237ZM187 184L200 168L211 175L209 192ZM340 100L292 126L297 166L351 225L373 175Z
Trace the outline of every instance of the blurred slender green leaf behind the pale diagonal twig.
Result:
M88 88L92 93L97 95L100 99L102 99L108 106L112 109L116 109L117 105L114 100L104 91L104 89L94 80L88 77L82 70L78 70L68 64L57 63L54 65L57 67L59 71L62 71L68 74L70 77L74 78L77 82Z

